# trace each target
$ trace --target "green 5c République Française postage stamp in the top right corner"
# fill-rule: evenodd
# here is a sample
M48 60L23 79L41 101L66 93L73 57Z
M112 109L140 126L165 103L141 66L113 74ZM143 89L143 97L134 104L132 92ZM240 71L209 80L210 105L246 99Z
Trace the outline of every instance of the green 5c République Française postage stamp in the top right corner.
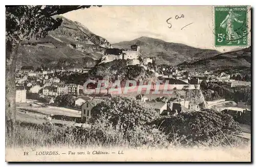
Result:
M247 6L216 6L215 46L248 44Z

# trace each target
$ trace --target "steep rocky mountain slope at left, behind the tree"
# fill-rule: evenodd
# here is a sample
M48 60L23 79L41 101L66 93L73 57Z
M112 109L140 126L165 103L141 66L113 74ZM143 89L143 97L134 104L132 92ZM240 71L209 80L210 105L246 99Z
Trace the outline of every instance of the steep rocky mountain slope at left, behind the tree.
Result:
M94 66L105 48L112 45L95 35L77 21L62 18L61 26L49 32L46 38L24 41L18 54L18 65L51 66L55 61L63 66ZM53 62L52 62L53 61ZM61 66L60 62L58 65Z

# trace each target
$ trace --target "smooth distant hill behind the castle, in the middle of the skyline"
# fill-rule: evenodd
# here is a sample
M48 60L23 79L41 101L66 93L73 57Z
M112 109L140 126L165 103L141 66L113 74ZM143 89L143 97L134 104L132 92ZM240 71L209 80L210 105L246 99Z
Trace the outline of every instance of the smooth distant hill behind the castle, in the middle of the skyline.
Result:
M177 65L184 61L214 57L220 52L216 50L199 49L181 43L166 42L150 37L140 37L131 41L112 44L119 49L130 49L130 46L140 46L142 57L156 57L157 64Z

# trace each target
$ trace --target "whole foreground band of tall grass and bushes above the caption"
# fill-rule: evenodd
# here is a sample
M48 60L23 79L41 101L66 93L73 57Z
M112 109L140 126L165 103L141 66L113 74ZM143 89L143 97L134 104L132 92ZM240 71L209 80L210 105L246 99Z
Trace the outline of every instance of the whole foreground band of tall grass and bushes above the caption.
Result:
M7 146L68 146L168 148L187 146L238 146L241 128L232 116L215 110L183 112L158 117L150 106L135 99L115 97L93 109L91 126L58 127L18 125Z

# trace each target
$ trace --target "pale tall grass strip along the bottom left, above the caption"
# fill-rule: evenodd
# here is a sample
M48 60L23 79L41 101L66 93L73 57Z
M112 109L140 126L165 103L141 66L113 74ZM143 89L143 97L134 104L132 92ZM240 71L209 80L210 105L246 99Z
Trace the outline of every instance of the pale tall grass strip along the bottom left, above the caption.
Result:
M162 133L146 128L129 130L125 134L113 126L94 125L91 128L57 127L53 124L19 125L14 136L6 136L7 147L167 147Z

